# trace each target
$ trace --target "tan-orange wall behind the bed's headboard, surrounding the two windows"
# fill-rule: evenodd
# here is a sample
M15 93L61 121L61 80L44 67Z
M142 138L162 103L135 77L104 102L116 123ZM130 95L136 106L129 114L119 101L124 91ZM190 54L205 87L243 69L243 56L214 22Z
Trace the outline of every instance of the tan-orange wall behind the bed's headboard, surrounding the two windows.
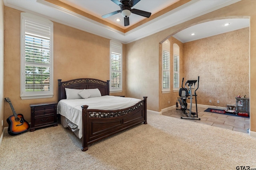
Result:
M31 103L58 100L57 79L97 78L109 80L109 39L54 22L54 96L53 98L20 99L20 12L5 6L5 70L4 96L9 97L17 113L30 122ZM125 45L124 45L125 50ZM124 53L124 66L125 53ZM2 67L1 67L2 68ZM124 68L125 69L125 68ZM125 73L123 74L125 84ZM1 81L2 82L2 81ZM120 95L125 95L125 87ZM116 95L116 94L113 94ZM8 103L4 104L4 117L12 115ZM5 121L4 126L8 126Z

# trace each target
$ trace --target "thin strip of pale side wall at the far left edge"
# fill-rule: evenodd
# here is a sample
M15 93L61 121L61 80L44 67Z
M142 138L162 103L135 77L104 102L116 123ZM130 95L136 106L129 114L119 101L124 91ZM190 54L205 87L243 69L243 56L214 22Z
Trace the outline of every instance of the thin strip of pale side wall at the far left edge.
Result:
M4 2L0 0L0 134L4 118ZM1 142L1 141L0 141Z

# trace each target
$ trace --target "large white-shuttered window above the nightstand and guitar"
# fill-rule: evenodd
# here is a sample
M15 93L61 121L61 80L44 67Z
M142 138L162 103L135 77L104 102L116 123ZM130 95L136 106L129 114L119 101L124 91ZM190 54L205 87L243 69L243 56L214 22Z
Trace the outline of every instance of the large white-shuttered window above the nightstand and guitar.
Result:
M20 97L53 96L53 23L21 13Z

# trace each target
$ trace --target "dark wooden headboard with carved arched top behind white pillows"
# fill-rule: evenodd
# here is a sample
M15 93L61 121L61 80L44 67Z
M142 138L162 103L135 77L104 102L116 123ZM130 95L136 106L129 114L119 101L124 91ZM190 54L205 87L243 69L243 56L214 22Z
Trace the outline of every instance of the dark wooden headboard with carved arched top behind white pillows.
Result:
M106 82L94 78L78 78L62 82L58 79L58 101L66 99L65 88L91 89L98 88L102 96L109 95L109 80Z

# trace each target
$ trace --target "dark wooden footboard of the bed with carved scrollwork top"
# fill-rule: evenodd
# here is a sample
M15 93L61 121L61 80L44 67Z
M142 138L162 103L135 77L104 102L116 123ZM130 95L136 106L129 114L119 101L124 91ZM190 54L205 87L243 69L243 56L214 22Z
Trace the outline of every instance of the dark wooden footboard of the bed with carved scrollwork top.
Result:
M138 102L132 107L119 110L96 110L82 107L83 136L82 151L88 150L88 145L128 129L139 123L147 124L146 100Z

